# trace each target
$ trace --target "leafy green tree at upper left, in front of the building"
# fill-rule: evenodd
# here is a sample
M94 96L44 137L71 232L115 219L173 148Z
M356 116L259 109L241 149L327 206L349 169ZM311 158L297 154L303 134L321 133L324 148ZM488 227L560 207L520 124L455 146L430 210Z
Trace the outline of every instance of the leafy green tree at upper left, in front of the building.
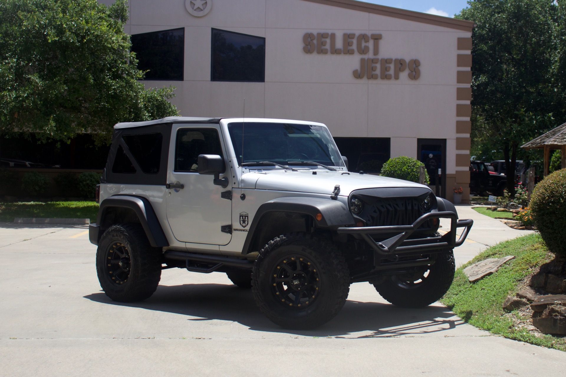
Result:
M0 135L108 141L118 122L178 115L174 87L144 88L125 0L0 1Z

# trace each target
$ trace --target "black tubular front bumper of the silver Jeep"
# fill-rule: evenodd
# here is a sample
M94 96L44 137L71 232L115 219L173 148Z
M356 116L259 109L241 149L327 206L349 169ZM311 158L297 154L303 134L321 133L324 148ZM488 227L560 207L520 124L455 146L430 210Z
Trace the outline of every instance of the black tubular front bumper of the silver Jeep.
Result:
M426 220L430 219L451 219L450 231L439 237L426 237L422 239L408 238L420 227ZM376 260L383 257L391 257L393 255L408 254L415 252L426 252L428 250L450 250L456 246L460 246L468 233L474 220L458 220L456 213L452 211L431 212L422 215L411 225L399 226L383 226L383 227L359 227L359 228L338 228L338 233L348 235L360 235L375 250ZM456 229L465 228L462 235L456 240ZM398 233L396 236L380 242L375 241L372 236ZM372 236L370 236L372 235ZM382 255L379 257L379 255ZM378 258L379 257L379 258Z

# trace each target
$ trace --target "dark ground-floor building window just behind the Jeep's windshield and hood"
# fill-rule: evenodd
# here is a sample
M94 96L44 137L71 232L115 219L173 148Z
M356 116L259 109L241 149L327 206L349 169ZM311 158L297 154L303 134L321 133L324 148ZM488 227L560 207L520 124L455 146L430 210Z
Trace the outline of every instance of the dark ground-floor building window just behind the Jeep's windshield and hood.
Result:
M349 171L379 173L391 156L391 139L381 137L335 137L340 153L348 158Z

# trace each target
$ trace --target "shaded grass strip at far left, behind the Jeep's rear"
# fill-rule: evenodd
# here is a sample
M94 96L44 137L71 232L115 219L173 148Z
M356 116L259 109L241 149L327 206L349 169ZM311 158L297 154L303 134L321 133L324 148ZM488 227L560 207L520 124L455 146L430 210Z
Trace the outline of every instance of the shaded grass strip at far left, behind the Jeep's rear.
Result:
M91 219L96 222L98 204L83 202L0 202L0 222L13 222L16 217L57 219Z

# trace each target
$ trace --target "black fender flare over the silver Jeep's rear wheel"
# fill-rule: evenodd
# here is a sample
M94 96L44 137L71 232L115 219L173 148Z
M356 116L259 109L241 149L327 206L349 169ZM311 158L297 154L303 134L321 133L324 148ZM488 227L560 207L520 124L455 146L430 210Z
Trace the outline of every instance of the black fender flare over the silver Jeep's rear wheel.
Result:
M154 248L169 246L169 241L163 232L163 228L161 228L161 224L157 219L151 202L149 202L147 198L131 195L114 195L106 198L100 203L100 208L98 209L98 217L96 219L97 226L102 224L102 219L104 219L106 211L112 207L122 207L133 210L140 220L141 227L143 227L145 231L149 244ZM104 232L106 229L101 230ZM102 235L102 232L100 232L100 235Z

